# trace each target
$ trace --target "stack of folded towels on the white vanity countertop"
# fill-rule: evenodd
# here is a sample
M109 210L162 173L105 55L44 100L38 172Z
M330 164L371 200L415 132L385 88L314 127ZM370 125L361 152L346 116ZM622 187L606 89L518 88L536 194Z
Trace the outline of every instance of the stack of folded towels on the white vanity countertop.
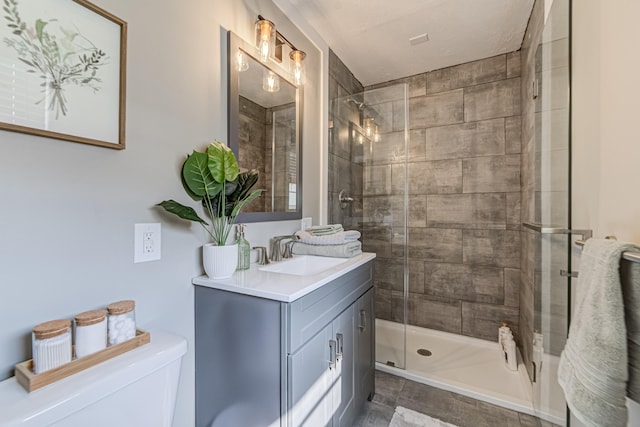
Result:
M296 237L292 252L298 255L351 258L362 253L360 232L345 231L342 224L316 225L296 232Z

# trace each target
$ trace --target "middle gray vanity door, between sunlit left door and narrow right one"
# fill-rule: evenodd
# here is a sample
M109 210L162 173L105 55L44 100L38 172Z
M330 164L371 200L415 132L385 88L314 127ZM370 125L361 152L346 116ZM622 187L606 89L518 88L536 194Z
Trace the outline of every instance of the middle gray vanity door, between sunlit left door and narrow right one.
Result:
M337 362L333 376L334 427L351 427L356 415L355 304L333 321Z

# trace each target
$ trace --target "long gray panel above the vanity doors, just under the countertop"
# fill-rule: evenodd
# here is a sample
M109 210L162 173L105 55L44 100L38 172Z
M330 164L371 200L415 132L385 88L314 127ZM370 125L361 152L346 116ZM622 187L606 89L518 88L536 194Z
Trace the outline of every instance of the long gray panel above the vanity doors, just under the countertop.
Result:
M293 354L373 286L368 262L287 304L287 353Z

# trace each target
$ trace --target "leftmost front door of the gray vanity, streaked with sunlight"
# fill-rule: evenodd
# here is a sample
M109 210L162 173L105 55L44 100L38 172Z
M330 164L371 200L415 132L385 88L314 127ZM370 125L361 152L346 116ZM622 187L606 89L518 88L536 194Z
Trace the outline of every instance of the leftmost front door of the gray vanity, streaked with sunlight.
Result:
M335 367L330 366L330 343L335 345L333 325L327 325L294 354L288 356L291 427L331 425L331 387Z

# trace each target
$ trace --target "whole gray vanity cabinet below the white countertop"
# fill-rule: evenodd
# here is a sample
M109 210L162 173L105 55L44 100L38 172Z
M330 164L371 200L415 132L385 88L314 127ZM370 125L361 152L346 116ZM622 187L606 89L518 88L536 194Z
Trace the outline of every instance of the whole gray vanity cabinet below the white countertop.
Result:
M352 426L373 396L367 262L282 302L195 290L196 426Z

